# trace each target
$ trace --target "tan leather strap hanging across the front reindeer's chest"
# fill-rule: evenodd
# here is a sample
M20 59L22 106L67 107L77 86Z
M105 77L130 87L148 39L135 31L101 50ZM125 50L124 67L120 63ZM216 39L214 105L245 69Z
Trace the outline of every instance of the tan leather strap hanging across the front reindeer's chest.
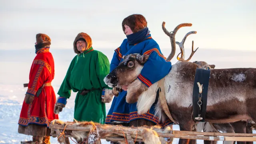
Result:
M164 95L164 79L165 79L165 78L162 78L161 80L158 81L159 99L160 99L162 108L163 108L164 112L166 113L166 115L168 116L168 118L170 118L170 120L171 120L172 122L174 122L174 124L178 124L178 123L172 118L171 113L170 113L169 108L168 108L168 105L167 105L167 102L166 102L166 98L165 98L165 95Z

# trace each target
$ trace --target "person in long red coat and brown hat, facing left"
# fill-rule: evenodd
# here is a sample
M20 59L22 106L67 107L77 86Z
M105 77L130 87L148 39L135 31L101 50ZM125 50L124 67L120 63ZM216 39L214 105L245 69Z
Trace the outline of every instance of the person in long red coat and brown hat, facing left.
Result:
M33 136L33 141L22 142L24 144L50 144L49 124L58 119L53 112L56 96L51 86L54 78L54 60L49 51L51 39L46 34L37 34L35 44L36 57L30 68L18 132Z

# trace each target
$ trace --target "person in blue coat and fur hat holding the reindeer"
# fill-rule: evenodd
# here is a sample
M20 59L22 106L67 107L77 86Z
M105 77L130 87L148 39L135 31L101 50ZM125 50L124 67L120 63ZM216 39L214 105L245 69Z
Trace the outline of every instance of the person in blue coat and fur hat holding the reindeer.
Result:
M122 62L122 56L134 53L148 54L149 58L144 64L138 80L150 87L170 72L172 64L171 62L166 62L157 42L150 34L144 16L132 14L124 18L122 28L127 38L115 50L110 64L110 72ZM118 97L114 97L106 117L107 124L122 124L124 126L150 126L156 124L166 126L172 124L170 120L162 123L158 120L158 117L154 116L154 106L157 103L158 96L148 112L139 115L136 108L137 102L134 104L126 102L126 90L127 86L122 86L122 92L119 92Z

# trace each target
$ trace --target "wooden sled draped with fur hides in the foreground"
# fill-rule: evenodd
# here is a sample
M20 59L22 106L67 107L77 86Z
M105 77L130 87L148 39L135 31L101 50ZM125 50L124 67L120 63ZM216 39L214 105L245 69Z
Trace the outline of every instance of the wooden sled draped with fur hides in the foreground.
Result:
M50 129L52 137L58 138L60 144L70 144L68 138L76 138L74 133L83 133L83 136L86 137L86 142L82 142L84 144L87 141L88 144L100 144L100 139L120 141L126 144L134 144L135 142L155 144L156 141L154 140L157 138L159 139L158 144L172 144L173 138L212 141L256 141L256 134L189 132L172 130L170 127L161 129L160 126L125 127L96 124L94 122L62 122L61 120L53 120L50 124ZM167 141L164 138L167 138ZM76 142L76 140L72 140Z

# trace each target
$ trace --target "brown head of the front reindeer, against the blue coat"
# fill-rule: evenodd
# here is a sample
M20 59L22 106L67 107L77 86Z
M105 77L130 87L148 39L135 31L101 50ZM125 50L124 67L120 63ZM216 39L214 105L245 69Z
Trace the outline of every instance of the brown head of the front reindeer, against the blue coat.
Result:
M132 83L140 74L144 63L148 60L149 55L129 54L123 56L123 61L110 72L104 82L111 88L128 85Z

